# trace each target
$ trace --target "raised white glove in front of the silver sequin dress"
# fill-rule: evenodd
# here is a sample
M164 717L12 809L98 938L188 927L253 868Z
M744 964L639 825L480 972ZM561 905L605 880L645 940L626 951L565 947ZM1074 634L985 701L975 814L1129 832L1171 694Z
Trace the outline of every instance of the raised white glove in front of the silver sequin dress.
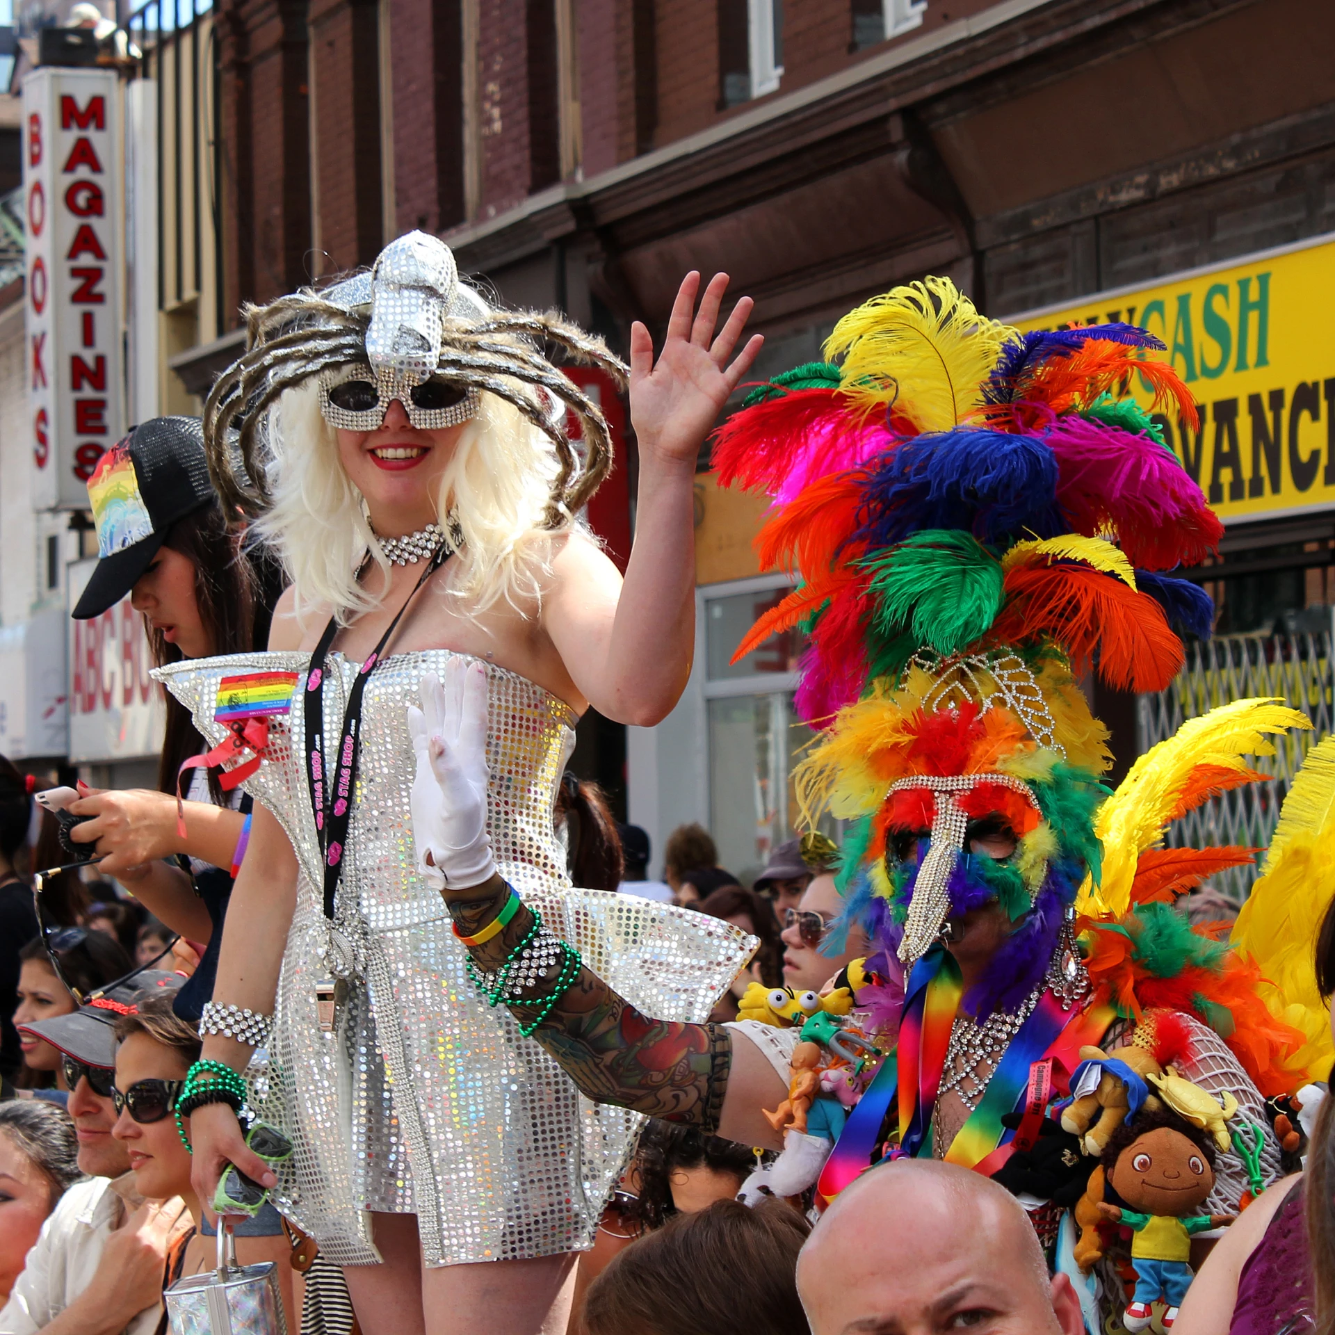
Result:
M481 885L495 872L487 837L487 672L451 658L427 673L409 705L417 756L410 809L417 868L438 890Z

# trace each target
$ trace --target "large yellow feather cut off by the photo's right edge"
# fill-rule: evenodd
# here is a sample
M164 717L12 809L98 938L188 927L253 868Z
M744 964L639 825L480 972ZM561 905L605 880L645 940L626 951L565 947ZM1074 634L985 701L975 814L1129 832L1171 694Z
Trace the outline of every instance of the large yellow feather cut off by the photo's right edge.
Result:
M1324 1079L1335 1059L1330 1012L1316 987L1312 945L1335 898L1335 737L1308 753L1279 813L1266 870L1234 924L1234 948L1260 968L1270 1009L1307 1043L1295 1064Z

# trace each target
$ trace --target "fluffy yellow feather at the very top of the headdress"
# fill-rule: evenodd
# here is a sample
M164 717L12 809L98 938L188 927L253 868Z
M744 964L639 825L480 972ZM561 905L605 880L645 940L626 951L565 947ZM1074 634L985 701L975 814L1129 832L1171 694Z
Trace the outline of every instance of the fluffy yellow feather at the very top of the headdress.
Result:
M1019 336L948 278L926 278L849 311L825 356L844 358L841 390L864 413L893 403L920 431L949 431L981 405L983 382Z

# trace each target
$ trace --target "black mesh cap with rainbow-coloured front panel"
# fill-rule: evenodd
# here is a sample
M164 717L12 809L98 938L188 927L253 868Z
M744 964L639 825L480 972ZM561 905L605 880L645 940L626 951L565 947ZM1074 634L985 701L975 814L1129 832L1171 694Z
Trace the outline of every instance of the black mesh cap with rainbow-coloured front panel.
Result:
M120 602L171 526L215 498L199 418L154 418L117 441L88 479L100 559L73 617L100 617Z

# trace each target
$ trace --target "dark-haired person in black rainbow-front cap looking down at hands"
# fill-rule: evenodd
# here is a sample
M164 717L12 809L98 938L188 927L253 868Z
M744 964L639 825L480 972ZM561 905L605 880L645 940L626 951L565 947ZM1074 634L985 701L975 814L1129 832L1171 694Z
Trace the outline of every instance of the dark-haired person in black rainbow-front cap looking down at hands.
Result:
M127 594L144 618L155 666L263 649L279 593L276 563L228 522L208 474L199 418L154 418L97 462L88 479L99 561L73 615L97 617ZM190 714L166 698L158 790L79 785L69 833L174 932L198 943L195 976L176 1004L198 1019L212 993L232 869L246 850L250 800L224 793L218 770L182 774L208 750ZM178 818L178 778L187 788ZM184 830L184 834L182 834ZM190 874L182 864L188 858Z

